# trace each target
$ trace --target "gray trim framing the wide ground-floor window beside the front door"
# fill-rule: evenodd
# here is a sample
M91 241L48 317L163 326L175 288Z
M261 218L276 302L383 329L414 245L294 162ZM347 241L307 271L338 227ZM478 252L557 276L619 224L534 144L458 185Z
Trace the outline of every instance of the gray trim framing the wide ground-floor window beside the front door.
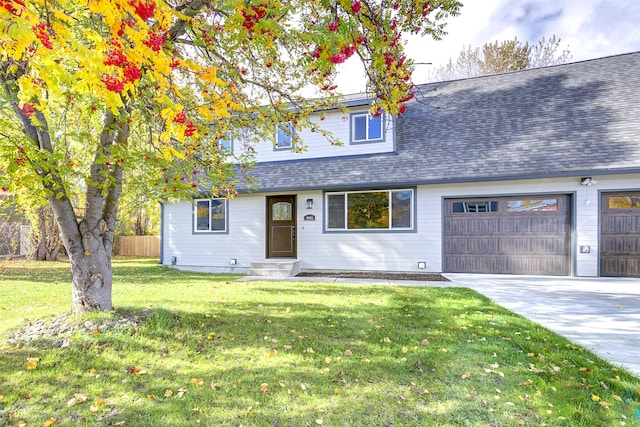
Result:
M393 227L393 204L392 195L396 192L409 191L411 193L409 214L410 214L410 226L409 227ZM389 200L389 226L387 228L348 228L349 226L349 210L347 204L348 194L362 194L362 193L388 193ZM329 228L329 197L342 195L344 197L344 228ZM416 224L416 197L417 191L415 187L409 188L382 188L382 189L367 189L367 190L344 190L344 191L325 191L323 194L323 233L416 233L418 227Z

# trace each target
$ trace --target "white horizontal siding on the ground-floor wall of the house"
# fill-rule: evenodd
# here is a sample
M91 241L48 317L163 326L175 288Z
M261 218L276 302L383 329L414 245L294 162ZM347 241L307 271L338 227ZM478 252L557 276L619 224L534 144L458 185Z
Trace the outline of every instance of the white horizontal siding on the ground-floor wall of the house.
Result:
M445 198L491 196L544 196L569 194L572 198L571 256L574 274L598 275L599 192L640 190L640 174L600 175L596 186L580 185L580 177L509 180L461 184L419 185L415 191L414 232L326 232L322 191L301 191L297 196L298 260L306 270L442 271L443 208ZM163 263L175 256L179 267L209 271L246 272L251 262L265 259L265 197L240 195L229 200L228 234L194 234L192 203L168 203L163 213ZM273 194L279 195L279 194ZM544 197L540 197L544 199ZM307 209L306 200L313 199ZM305 216L309 219L305 220ZM579 253L582 245L589 253ZM231 266L230 260L237 259Z

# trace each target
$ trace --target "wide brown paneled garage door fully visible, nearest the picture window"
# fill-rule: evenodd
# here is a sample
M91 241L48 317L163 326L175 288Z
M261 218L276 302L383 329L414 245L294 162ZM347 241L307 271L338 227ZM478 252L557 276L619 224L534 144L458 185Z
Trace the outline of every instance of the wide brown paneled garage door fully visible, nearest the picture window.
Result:
M444 271L567 276L568 195L445 199Z

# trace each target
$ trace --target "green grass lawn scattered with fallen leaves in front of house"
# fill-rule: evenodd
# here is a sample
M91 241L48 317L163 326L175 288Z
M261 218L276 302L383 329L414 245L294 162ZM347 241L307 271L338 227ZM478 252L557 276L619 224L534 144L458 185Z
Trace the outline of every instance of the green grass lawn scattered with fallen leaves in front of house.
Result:
M0 263L0 425L640 425L637 377L469 289L237 277L116 260L88 318L137 331L12 347L71 309L69 272Z

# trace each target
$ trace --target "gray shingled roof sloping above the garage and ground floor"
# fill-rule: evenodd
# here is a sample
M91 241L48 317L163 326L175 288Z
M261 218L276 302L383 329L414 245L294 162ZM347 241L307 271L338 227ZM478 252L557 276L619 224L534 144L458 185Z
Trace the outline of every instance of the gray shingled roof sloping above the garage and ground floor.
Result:
M640 53L417 87L395 153L260 163L258 190L640 172Z

